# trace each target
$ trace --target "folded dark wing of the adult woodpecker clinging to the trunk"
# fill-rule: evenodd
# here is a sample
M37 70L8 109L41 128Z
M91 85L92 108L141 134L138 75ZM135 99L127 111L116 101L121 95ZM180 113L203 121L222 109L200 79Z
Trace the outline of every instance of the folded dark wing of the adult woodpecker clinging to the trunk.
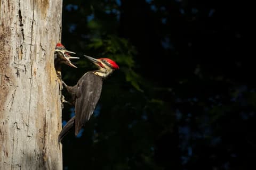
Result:
M75 105L75 134L79 132L85 122L87 122L99 101L102 78L93 72L88 72L79 79L77 83L77 99Z

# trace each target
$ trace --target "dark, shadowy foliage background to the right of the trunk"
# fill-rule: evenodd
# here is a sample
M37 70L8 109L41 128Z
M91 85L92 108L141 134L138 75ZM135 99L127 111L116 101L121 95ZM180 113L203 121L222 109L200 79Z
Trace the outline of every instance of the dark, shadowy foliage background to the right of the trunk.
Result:
M63 140L63 169L256 169L249 4L63 3L62 44L81 57L63 80L95 69L83 54L120 67L83 131ZM65 105L63 124L73 115Z

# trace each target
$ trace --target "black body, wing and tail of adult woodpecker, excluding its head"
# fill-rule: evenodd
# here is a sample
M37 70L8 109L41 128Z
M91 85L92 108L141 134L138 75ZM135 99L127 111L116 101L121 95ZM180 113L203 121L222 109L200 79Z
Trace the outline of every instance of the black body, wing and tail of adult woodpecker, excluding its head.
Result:
M59 134L59 141L67 134L75 123L75 134L81 130L82 126L90 119L99 101L102 78L94 72L87 72L80 78L73 87L66 86L72 97L71 103L75 105L75 118L71 118L63 127Z

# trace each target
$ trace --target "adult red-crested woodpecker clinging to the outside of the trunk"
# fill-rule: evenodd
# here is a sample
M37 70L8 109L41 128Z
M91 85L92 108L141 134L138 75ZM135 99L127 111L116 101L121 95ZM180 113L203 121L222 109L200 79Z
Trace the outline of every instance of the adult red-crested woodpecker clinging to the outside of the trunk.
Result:
M77 135L85 122L87 122L93 114L100 98L103 78L108 77L114 70L119 69L119 66L109 58L95 59L86 55L85 57L97 65L99 69L85 73L73 87L67 86L67 84L62 81L71 95L71 103L75 105L75 116L62 128L59 134L59 142L69 132L74 123L75 135Z

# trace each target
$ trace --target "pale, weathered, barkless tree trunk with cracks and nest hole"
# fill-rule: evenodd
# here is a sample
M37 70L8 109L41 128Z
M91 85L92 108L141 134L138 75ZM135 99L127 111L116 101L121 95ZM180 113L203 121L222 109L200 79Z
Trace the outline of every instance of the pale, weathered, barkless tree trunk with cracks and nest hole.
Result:
M0 0L0 169L62 169L62 0Z

